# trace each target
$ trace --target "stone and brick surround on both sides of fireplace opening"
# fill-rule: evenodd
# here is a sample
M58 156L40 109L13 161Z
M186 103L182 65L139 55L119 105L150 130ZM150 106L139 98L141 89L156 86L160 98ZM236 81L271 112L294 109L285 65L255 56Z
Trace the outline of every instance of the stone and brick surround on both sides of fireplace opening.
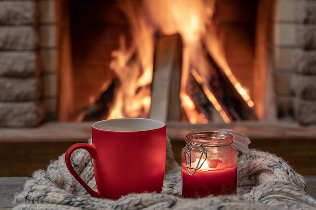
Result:
M55 1L0 0L0 127L56 119ZM316 0L276 2L279 120L316 124Z

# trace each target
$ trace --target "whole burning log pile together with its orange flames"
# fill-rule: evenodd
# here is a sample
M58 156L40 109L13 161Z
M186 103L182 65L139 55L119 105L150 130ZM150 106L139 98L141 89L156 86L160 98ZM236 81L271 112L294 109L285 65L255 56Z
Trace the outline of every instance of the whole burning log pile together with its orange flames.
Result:
M162 121L185 118L191 123L207 123L214 121L216 114L213 110L216 109L217 115L227 123L257 119L249 107L249 102L253 102L247 94L248 100L241 95L240 91L244 89L238 89L241 85L232 77L232 72L210 55L209 45L203 40L206 23L213 12L201 14L204 10L199 9L206 5L199 1L194 5L187 4L186 10L182 11L195 12L177 17L169 13L172 15L167 21L144 11L163 11L167 3L178 10L174 2L157 5L161 7L157 11L147 3L122 2L122 10L132 24L134 42L128 47L124 37L120 38L120 48L112 53L114 58L110 64L120 87L113 92L109 90L112 94L106 93L108 90L104 92L94 108L104 103L104 99L109 102L110 95L114 103L109 109L105 108L110 112L106 118L149 117ZM209 11L213 11L213 3ZM183 17L187 21L183 21ZM157 38L157 34L162 36ZM209 44L214 45L213 42Z

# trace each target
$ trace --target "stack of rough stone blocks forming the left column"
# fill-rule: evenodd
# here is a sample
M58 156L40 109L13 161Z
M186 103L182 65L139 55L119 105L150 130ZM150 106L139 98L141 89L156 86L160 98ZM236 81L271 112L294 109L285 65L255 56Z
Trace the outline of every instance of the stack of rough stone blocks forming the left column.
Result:
M0 127L32 127L39 103L35 1L0 1Z

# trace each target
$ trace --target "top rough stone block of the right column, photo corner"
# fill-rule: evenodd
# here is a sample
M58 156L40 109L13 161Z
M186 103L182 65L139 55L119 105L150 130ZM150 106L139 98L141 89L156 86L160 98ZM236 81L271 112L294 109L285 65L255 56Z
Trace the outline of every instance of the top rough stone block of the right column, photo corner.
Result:
M296 19L299 23L316 23L316 1L297 1Z

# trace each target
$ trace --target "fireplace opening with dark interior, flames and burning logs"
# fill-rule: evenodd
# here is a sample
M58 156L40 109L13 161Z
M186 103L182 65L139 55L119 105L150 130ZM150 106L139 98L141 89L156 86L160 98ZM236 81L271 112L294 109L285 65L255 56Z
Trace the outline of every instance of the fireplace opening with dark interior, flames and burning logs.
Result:
M60 80L65 86L69 85L67 89L72 94L59 89L59 95L61 109L72 104L72 110L59 110L58 119L78 122L85 119L95 121L105 118L150 117L167 121L171 119L169 116L160 116L168 112L169 107L163 110L161 105L156 104L168 102L169 90L174 89L178 90L175 93L178 96L170 99L172 102L169 103L177 102L181 106L177 110L174 104L170 104L174 112L179 113L178 118L172 120L184 119L191 123L214 121L209 116L214 108L226 122L256 119L251 109L251 98L256 95L253 88L256 13L249 13L241 22L238 20L240 12L231 15L228 21L237 23L238 27L235 31L234 28L229 31L232 27L226 26L228 21L223 20L221 15L212 18L214 3L213 0L208 5L204 2L192 4L190 1L181 2L181 5L169 1L150 4L130 1L120 1L120 4L117 1L69 1L62 9L66 10L65 14L61 15L69 18L61 20L69 23L64 24L69 29L62 27L60 36L68 37L70 49L67 50L66 46L60 57L61 66L69 62L65 57L70 57L71 65L63 69ZM231 5L237 11L242 8L256 11L257 8L256 4L249 2ZM224 9L221 9L223 6ZM227 10L220 2L216 7L215 14L223 14ZM170 11L165 13L166 8ZM83 17L84 11L91 12ZM192 21L194 24L191 24ZM207 24L210 26L205 26ZM211 28L213 25L215 27ZM224 29L218 33L216 28ZM215 33L212 34L212 31ZM232 33L238 35L230 36ZM238 39L244 40L243 43L238 44ZM66 41L62 41L64 48ZM214 50L216 55L220 54L221 47L213 50L213 43L217 42L223 43L227 48L225 51L232 52L232 56L228 55L228 64L233 66L232 70L225 62L219 62L225 60L221 58L226 55L220 58L210 55ZM177 50L173 50L172 46ZM243 56L236 57L237 51L244 51ZM166 54L174 59L165 59ZM170 75L176 71L174 65L179 66L180 74L175 73L176 77L168 78L168 71ZM169 69L164 69L166 66ZM234 76L238 70L239 78L243 79L241 83L247 85L248 91L241 87ZM247 72L246 77L240 77L242 71ZM176 80L178 78L181 80ZM164 85L162 80L165 80ZM194 82L195 85L189 84ZM234 85L240 87L235 88ZM163 93L164 87L168 87L168 90ZM238 91L243 91L244 95ZM179 100L181 103L178 103ZM201 103L201 100L204 102ZM186 103L194 104L195 109L191 110Z

